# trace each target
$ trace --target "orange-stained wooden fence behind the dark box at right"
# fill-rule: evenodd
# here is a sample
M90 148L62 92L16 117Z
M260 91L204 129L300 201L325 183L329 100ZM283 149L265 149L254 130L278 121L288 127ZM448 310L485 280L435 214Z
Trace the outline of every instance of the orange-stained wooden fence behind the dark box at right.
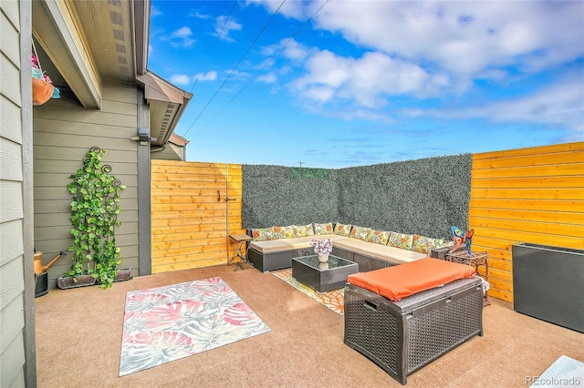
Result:
M469 225L489 295L513 301L513 244L584 249L584 142L475 154Z

